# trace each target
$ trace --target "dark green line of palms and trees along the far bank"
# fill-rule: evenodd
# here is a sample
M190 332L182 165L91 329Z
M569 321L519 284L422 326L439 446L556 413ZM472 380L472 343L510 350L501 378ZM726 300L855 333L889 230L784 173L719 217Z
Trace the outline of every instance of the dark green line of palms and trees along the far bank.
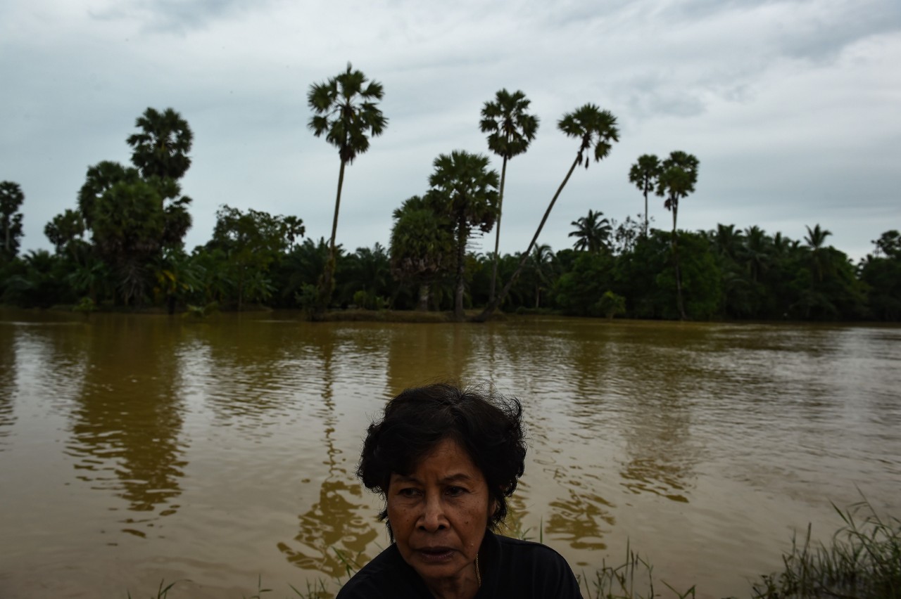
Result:
M609 111L587 103L557 121L578 142L576 156L523 252L499 255L506 166L527 151L540 120L522 91L497 92L481 111L487 156L465 150L432 163L429 186L394 210L389 247L336 244L346 167L387 129L381 84L350 64L311 85L308 127L338 150L340 168L331 237L305 237L302 219L223 205L213 237L190 253L191 199L180 179L191 165L190 127L171 108L148 108L126 139L132 165L90 166L76 206L47 223L54 251L18 255L24 194L0 183L0 302L83 309L265 304L304 308L312 317L356 306L449 310L457 320L505 311L638 318L877 319L901 316L901 237L888 230L859 264L826 245L816 224L803 240L751 226L678 229L679 202L695 190L696 156L639 156L628 174L644 197L644 215L623 222L601 210L571 223L571 248L539 244L542 228L578 166L609 155L619 139ZM663 199L672 228L651 228L649 195ZM495 232L494 252L471 239ZM499 290L499 291L498 291ZM199 307L199 308L198 308Z

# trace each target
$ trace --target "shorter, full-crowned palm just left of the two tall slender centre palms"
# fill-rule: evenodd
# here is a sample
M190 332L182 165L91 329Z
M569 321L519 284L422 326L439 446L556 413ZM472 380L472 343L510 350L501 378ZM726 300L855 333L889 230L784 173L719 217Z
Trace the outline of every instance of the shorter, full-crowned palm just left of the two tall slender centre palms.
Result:
M497 172L489 171L487 156L454 150L434 161L427 201L453 222L457 237L457 285L454 318L463 319L463 273L466 242L472 228L487 233L497 218Z

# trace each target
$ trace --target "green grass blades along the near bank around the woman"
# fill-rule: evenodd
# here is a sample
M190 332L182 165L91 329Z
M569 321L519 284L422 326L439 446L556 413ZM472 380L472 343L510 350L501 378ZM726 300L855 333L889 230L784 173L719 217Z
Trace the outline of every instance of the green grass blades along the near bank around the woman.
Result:
M879 516L865 498L843 511L834 504L833 507L842 526L832 540L828 544L812 544L808 525L804 541L799 543L797 537L793 538L791 550L783 554L783 569L761 575L751 584L752 599L901 599L901 520ZM540 541L543 541L542 529L543 523L539 529ZM510 532L528 539L531 529L516 528ZM344 564L348 578L353 576L360 568L358 561L338 550L335 553ZM334 583L341 587L340 579ZM696 586L679 591L654 577L651 562L633 551L628 542L623 563L608 566L602 561L594 576L580 573L578 583L584 589L585 599L653 599L664 596L664 590L669 590L666 596L678 599L696 596ZM176 583L164 584L160 581L156 597L150 599L167 599ZM307 582L305 591L288 586L301 599L334 596L321 578L313 584ZM256 595L245 599L262 599L261 595L272 592L263 588L262 579L258 578Z

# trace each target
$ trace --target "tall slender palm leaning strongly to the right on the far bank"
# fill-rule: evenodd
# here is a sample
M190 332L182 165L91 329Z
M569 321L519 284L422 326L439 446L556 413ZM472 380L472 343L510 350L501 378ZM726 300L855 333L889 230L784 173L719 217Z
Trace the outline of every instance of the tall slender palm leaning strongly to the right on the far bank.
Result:
M478 315L476 320L479 322L484 322L491 316L491 313L496 310L502 301L504 301L506 294L510 291L510 288L513 287L516 277L522 273L523 266L529 259L529 255L532 253L532 247L535 245L535 242L538 241L538 236L542 234L544 223L547 222L548 217L551 216L551 210L553 210L554 203L557 201L557 198L560 197L560 192L563 191L563 188L566 187L566 184L569 182L569 177L572 175L572 172L576 170L578 165L584 164L585 167L588 168L588 165L591 163L591 157L587 152L594 148L593 154L595 156L595 162L598 162L610 154L613 142L619 141L619 130L616 128L616 117L614 117L613 113L610 111L603 111L595 104L591 103L579 107L574 112L564 114L560 121L557 121L557 129L563 131L568 137L579 140L576 159L573 161L572 166L569 167L569 172L563 178L563 183L560 183L560 187L557 188L557 192L554 193L554 197L551 198L548 209L544 211L544 216L542 217L542 222L538 225L538 230L535 231L535 235L532 236L532 241L529 242L529 247L520 257L519 266L516 267L516 271L513 273L513 276L510 277L510 280L506 282L504 290L500 292L500 295L493 301L489 301L487 308Z

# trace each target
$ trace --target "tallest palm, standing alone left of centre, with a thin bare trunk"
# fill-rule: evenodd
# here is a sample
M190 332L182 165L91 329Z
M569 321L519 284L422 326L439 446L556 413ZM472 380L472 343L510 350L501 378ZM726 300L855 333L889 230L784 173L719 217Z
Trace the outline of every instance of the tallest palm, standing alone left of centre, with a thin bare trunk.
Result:
M338 172L338 194L335 197L335 214L332 219L332 239L329 242L329 259L325 264L323 284L320 288L318 309L328 308L334 289L335 234L338 232L338 211L341 208L341 186L344 184L344 167L353 164L354 158L369 149L369 137L382 134L387 118L376 103L385 91L377 81L369 81L361 71L347 70L320 84L310 85L307 103L313 110L307 126L314 136L338 148L341 170Z

